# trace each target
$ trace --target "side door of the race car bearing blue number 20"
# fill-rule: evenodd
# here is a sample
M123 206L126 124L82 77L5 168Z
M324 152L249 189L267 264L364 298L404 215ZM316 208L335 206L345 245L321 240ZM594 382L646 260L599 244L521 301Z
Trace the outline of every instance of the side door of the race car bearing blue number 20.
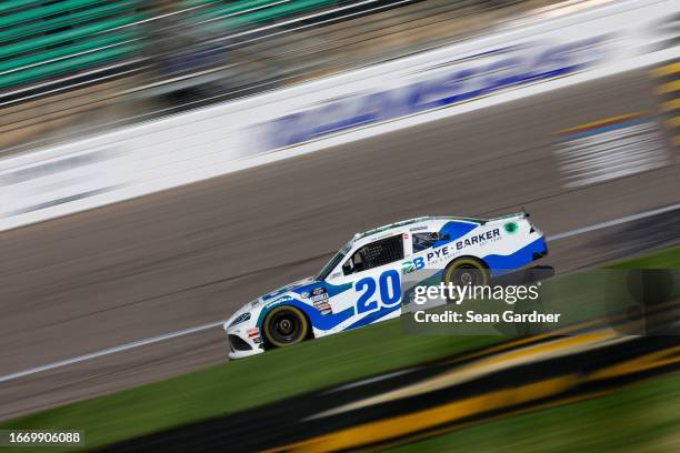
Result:
M401 313L401 262L403 234L392 234L358 245L348 253L332 284L351 284L349 291L331 299L333 311L353 306L353 316L342 330L384 321Z

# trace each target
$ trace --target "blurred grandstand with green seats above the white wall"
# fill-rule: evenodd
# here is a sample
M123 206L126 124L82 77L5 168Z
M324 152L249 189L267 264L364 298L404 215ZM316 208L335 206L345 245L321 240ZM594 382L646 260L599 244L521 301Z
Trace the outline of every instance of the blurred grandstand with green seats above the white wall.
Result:
M6 1L0 148L17 152L394 59L539 20L558 3Z

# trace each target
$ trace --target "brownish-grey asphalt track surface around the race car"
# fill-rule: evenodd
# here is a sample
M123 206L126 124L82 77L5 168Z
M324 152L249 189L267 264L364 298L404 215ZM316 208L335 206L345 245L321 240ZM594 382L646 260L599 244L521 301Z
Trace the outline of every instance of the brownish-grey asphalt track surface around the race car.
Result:
M0 375L227 319L313 274L351 234L524 207L548 234L680 201L664 168L562 187L554 133L656 111L643 71L0 234ZM669 157L672 151L669 148ZM680 211L550 244L558 272L678 242ZM227 359L221 329L0 383L0 419Z

